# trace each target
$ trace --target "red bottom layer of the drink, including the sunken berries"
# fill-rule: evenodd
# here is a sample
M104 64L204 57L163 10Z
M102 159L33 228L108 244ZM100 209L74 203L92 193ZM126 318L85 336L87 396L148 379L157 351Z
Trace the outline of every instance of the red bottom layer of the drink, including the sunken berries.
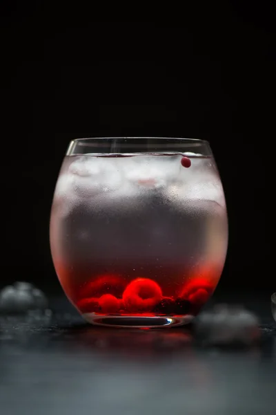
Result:
M88 272L58 267L63 288L82 314L128 316L177 316L197 315L200 308L213 294L219 280L219 270L201 270L197 274L186 273L177 279L167 274L149 277L133 277L129 274L103 274L88 277ZM152 273L148 273L152 275ZM73 284L83 281L83 284ZM157 283L159 281L159 284Z

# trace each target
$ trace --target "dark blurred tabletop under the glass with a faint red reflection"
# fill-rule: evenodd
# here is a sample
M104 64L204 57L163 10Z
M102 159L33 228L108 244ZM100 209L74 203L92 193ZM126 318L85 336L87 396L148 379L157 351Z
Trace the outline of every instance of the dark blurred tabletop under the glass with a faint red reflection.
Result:
M193 327L89 326L66 299L50 322L2 318L1 414L275 414L270 298L237 300L262 320L248 349L199 347Z

